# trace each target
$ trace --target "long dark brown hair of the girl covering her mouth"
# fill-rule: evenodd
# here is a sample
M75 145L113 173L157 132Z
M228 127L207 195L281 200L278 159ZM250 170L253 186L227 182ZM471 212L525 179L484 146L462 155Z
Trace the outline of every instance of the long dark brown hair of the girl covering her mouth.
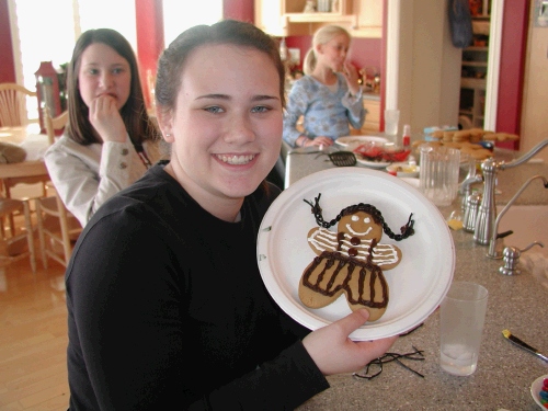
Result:
M89 121L89 107L80 95L78 73L80 71L83 52L94 43L102 43L113 48L127 60L132 71L129 98L119 113L134 145L141 145L145 140L157 140L158 129L147 114L142 89L139 81L137 59L129 42L112 28L89 30L78 38L72 52L72 59L68 67L67 93L69 124L66 134L78 144L88 146L102 142Z

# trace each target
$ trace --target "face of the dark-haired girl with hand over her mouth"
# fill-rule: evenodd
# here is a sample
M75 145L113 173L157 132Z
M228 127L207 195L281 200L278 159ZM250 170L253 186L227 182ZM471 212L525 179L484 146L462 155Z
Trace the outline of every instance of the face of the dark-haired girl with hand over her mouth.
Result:
M89 107L94 99L110 95L121 110L129 98L132 69L129 62L114 48L103 43L93 43L80 57L78 88Z

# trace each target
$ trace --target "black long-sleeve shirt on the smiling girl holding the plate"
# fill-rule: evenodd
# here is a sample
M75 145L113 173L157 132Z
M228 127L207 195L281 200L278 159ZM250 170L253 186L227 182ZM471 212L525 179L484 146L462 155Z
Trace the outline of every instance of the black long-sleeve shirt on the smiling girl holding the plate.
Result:
M156 165L98 210L66 274L70 410L294 409L329 387L259 273L269 189L226 222Z

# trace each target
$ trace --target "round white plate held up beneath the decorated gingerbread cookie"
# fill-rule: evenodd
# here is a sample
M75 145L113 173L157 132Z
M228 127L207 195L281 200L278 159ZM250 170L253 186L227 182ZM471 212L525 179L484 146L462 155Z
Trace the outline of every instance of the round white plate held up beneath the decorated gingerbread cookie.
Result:
M365 168L323 170L297 181L272 204L261 222L258 262L263 282L279 307L302 326L316 330L351 312L344 294L331 305L311 309L300 302L298 284L316 256L307 236L318 227L310 205L321 194L323 218L331 220L357 203L377 207L395 231L413 214L415 233L396 242L402 252L398 266L385 271L390 301L384 316L351 334L376 340L401 334L423 322L441 304L453 279L455 246L439 210L416 189L384 171ZM334 230L335 228L331 228Z

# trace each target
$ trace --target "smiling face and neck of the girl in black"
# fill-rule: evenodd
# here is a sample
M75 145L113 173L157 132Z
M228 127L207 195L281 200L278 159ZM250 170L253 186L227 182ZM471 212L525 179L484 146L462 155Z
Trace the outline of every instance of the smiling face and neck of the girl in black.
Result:
M201 46L182 69L176 107L158 116L172 144L165 170L209 213L239 209L279 156L278 72L253 48Z

